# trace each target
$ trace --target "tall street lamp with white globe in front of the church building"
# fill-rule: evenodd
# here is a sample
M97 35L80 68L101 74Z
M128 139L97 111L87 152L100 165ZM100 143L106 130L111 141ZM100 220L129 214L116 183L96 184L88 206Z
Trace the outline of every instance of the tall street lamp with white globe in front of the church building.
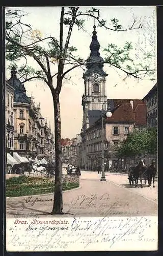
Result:
M109 106L109 101L108 100L105 100L102 104L102 129L101 129L101 132L102 132L102 159L101 159L101 170L102 170L102 176L101 176L101 179L100 181L106 181L105 179L105 167L104 167L104 142L103 142L103 106L104 104L107 102L107 111L105 112L105 116L106 117L111 117L112 116L112 112L110 111L110 106Z

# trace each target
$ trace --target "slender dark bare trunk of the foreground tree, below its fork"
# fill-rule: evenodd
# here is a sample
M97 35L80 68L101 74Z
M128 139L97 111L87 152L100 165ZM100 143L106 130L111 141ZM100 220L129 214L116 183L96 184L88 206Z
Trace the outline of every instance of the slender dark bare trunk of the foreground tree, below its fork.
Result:
M61 148L61 115L59 94L52 93L55 112L55 151L56 151L56 171L55 171L55 196L51 214L63 214L62 198L62 148Z

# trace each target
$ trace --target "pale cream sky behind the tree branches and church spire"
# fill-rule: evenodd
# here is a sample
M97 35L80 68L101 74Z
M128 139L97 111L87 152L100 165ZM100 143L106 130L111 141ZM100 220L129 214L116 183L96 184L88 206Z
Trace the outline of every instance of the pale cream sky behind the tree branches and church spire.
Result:
M31 24L34 30L39 30L41 36L52 35L59 39L59 23L61 7L9 7L10 9L22 10L28 12L28 16L24 16L24 22ZM156 9L154 6L141 7L97 7L100 9L101 17L106 20L109 25L111 18L118 18L123 27L128 28L132 24L133 17L137 17L137 22L143 24L142 29L115 32L108 31L104 28L96 27L98 41L100 43L100 55L104 58L103 49L107 44L116 44L123 47L126 41L131 41L133 45L132 58L135 62L143 60L143 52L151 52L155 55L151 62L151 67L156 66ZM89 7L80 7L82 11L88 10ZM127 17L127 18L126 18ZM95 22L97 26L97 22ZM87 59L90 54L90 43L94 19L86 19L85 30L75 28L72 33L70 45L76 47L77 54L83 59ZM66 35L67 28L64 28ZM29 60L32 66L35 66L33 60ZM123 81L125 74L119 72L107 64L103 70L108 74L106 78L106 96L107 98L120 99L142 99L154 86L155 81L149 79L135 80L127 78ZM77 68L71 71L63 81L63 87L60 94L61 104L61 136L63 138L73 138L79 134L82 129L83 106L82 95L84 94L84 71ZM6 78L10 78L10 71L6 70ZM156 78L156 77L155 77ZM48 124L50 122L51 130L54 130L53 103L49 88L45 82L40 80L26 82L24 84L26 94L34 97L36 104L40 102L41 114L47 117Z

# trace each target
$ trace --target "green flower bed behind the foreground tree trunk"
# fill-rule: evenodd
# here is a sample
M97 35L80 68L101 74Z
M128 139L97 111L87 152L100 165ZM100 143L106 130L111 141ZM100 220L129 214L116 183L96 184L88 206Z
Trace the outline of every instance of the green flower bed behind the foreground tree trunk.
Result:
M63 175L63 190L69 190L79 186L79 178ZM19 176L6 180L6 197L20 197L53 193L55 180L43 177Z

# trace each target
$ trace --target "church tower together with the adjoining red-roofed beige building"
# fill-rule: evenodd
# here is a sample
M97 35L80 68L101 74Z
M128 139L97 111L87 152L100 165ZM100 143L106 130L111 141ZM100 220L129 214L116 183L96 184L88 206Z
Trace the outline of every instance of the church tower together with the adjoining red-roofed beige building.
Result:
M87 59L87 71L84 73L85 94L82 98L82 168L95 170L101 164L101 126L102 113L107 105L113 113L111 118L104 119L103 138L105 143L105 164L107 168L119 165L115 154L120 141L126 139L133 129L141 131L146 127L146 105L137 99L107 99L106 76L103 71L103 58L100 56L100 45L94 26L90 56ZM121 163L121 166L123 164ZM105 165L106 166L106 165Z

